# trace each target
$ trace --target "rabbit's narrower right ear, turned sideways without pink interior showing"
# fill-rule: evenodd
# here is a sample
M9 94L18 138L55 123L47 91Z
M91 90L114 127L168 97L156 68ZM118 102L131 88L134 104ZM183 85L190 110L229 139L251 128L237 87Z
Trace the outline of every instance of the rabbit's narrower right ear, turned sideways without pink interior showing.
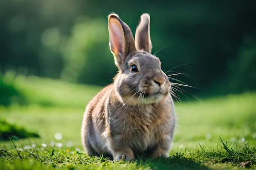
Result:
M150 40L149 24L150 16L148 13L142 14L135 32L135 46L137 50L151 53L152 42Z

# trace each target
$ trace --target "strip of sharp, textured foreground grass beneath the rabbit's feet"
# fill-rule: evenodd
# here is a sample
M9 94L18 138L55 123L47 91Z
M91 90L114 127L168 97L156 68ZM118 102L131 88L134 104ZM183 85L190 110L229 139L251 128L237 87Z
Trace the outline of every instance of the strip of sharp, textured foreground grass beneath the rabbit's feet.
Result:
M220 139L221 140L221 139ZM222 140L221 140L222 141ZM60 148L57 146L25 146L13 150L0 150L0 163L5 169L141 169L141 170L218 170L256 168L256 150L245 146L242 149L230 149L222 143L218 150L189 149L171 154L171 157L143 159L131 162L111 161L103 157L87 157L76 147ZM15 153L16 152L16 153ZM4 161L3 159L4 158Z

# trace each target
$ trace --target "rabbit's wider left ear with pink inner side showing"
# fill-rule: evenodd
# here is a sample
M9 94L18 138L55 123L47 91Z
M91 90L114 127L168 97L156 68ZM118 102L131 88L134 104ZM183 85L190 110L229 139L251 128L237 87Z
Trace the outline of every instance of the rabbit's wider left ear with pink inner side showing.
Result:
M117 14L112 13L108 15L108 32L109 46L115 56L115 64L123 70L127 55L136 51L132 31Z

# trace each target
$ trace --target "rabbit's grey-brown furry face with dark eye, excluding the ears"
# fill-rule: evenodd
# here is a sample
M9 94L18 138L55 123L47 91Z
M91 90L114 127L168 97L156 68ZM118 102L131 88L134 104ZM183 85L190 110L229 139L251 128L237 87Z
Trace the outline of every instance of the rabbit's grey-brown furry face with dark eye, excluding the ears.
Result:
M131 53L115 78L116 90L128 105L152 104L168 95L171 85L160 60L147 52Z

